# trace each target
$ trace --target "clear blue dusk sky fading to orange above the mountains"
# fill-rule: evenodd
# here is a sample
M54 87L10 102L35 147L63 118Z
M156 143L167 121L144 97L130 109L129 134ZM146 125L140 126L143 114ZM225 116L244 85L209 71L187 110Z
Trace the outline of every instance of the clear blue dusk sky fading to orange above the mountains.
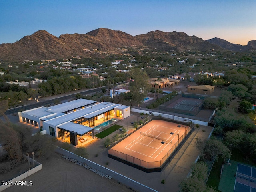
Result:
M181 31L246 45L256 40L256 0L0 0L0 44L38 30L58 37L100 27L132 36Z

